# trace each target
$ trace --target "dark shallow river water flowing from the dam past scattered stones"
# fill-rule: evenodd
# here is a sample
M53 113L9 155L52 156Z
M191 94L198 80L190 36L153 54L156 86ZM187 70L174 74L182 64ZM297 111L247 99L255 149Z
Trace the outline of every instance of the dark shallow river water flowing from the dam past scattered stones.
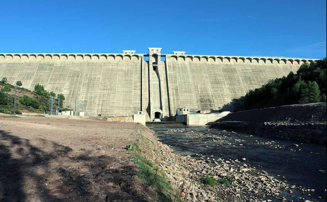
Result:
M286 180L290 186L315 189L315 192L304 194L284 193L288 199L298 201L297 198L302 197L311 201L326 201L325 145L210 130L205 126L149 125L148 127L155 131L155 136L162 143L170 145L178 154L195 158L201 157L196 154L231 160L246 158L248 165L255 166L258 171L264 170L282 181ZM299 146L292 146L293 143ZM281 179L281 176L285 179ZM309 193L311 197L306 196Z

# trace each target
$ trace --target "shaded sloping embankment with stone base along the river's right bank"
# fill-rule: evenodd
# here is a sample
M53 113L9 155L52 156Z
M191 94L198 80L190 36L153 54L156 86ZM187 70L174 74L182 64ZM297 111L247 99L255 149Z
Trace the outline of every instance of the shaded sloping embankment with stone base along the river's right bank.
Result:
M297 104L235 112L210 123L211 128L270 138L326 143L326 103Z

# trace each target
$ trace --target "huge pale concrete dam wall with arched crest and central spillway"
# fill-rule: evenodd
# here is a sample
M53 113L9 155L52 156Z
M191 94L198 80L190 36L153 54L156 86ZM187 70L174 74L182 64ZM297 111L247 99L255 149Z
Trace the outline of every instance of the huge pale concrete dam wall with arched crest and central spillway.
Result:
M40 83L64 94L74 109L84 101L89 116L127 116L144 111L146 120L168 119L177 108L232 111L233 99L270 79L296 72L314 59L161 54L0 53L0 78L22 81L24 88Z

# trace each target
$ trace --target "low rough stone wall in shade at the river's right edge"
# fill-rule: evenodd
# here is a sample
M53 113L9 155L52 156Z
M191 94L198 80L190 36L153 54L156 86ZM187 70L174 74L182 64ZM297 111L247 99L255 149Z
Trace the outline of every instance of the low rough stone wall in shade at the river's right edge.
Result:
M326 144L326 124L322 123L264 123L256 129L255 134L268 138Z

